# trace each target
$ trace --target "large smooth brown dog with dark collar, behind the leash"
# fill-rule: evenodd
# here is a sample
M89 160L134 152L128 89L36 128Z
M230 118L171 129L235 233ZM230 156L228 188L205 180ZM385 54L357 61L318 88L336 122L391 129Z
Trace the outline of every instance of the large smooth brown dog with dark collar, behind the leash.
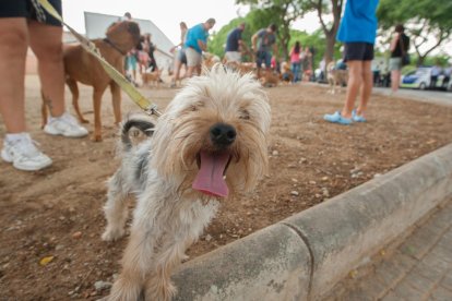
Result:
M124 73L126 53L140 41L140 27L135 22L122 21L108 27L106 38L93 43L102 56L119 72ZM88 122L83 118L79 108L78 82L93 87L94 104L94 141L102 141L100 100L105 89L110 86L115 122L121 122L121 92L119 86L107 75L104 68L81 45L64 45L63 60L66 83L72 93L72 105L80 122ZM43 108L44 122L47 120L46 109Z

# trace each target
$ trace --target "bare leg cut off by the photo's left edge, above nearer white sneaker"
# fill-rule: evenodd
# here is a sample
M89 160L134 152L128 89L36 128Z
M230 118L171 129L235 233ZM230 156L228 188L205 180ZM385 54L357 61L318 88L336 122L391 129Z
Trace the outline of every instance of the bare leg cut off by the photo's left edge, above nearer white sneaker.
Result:
M0 19L0 112L10 134L26 131L24 80L27 45L25 19Z

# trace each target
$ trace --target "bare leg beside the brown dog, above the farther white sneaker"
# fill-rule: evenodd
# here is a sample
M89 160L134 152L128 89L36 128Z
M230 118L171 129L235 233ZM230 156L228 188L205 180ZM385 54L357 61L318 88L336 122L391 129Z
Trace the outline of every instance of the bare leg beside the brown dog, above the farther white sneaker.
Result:
M29 21L29 45L38 59L38 73L47 107L52 117L64 112L64 65L62 27Z

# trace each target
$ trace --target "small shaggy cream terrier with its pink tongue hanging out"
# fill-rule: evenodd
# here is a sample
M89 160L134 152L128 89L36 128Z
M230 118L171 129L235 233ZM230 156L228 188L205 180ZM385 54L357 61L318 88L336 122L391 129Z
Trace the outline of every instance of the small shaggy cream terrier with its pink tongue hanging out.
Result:
M144 118L123 123L122 165L108 182L104 240L124 234L127 195L135 194L138 203L122 270L107 300L171 299L171 269L222 200L251 191L265 174L270 121L260 83L216 64L188 81L155 128ZM133 145L131 128L148 137Z

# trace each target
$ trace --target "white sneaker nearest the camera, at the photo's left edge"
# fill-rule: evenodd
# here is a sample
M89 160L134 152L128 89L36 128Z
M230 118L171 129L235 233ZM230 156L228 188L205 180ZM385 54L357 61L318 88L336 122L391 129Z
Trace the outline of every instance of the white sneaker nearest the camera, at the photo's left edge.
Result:
M36 146L28 134L14 142L4 140L1 158L12 162L16 169L35 171L51 165L51 159L44 155Z

